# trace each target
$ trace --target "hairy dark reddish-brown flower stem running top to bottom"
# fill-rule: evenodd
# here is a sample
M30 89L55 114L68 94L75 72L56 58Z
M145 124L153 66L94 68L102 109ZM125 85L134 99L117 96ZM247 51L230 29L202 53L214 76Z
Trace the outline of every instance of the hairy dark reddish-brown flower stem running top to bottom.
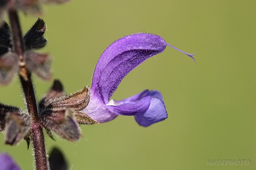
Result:
M48 170L49 163L46 158L46 149L44 134L42 127L40 126L37 112L37 103L35 100L35 93L33 88L33 83L31 80L31 73L26 68L26 63L24 60L24 46L22 40L22 33L19 24L19 18L17 11L11 8L9 5L8 16L11 24L12 31L12 44L14 51L19 56L19 78L22 85L22 90L25 95L25 104L27 111L31 117L31 138L35 159L35 168L37 170Z

